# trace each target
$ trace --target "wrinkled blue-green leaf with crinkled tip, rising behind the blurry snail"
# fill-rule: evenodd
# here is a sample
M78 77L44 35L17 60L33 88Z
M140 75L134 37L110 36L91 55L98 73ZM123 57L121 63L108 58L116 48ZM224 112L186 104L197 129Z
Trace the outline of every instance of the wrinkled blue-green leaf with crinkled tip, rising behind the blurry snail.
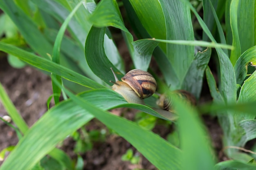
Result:
M182 84L182 89L191 92L196 99L199 99L200 97L204 71L209 63L210 57L211 49L207 48L202 52L199 51L195 55L195 58Z

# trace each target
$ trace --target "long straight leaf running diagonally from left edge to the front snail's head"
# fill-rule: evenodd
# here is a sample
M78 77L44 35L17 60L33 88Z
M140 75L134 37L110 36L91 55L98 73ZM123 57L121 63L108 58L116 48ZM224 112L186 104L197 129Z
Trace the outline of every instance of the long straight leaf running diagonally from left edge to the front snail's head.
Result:
M15 46L11 46L9 44L5 44L3 42L0 42L0 50L4 51L6 53L12 54L16 57L18 57L20 60L27 62L28 64L31 64L32 66L35 66L36 68L40 68L42 70L48 71L50 73L55 73L57 75L61 75L61 77L70 80L72 82L76 82L77 84L81 84L82 86L88 87L88 88L106 88L105 86L102 86L91 79L76 73L64 66L58 65L50 60L38 57L37 55L34 55L33 53L29 53L27 51L24 51L22 49L19 49Z

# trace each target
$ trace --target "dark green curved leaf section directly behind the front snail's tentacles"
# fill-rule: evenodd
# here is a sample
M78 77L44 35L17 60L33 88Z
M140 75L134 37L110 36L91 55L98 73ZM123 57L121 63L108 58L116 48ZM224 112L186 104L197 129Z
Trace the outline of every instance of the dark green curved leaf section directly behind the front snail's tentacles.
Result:
M114 76L110 68L113 68L114 71L118 70L108 60L104 51L103 41L105 30L106 28L96 28L92 26L85 42L85 57L94 74L104 82L112 85L109 81L114 80ZM120 71L118 72L120 73ZM121 78L120 74L117 74L119 78Z

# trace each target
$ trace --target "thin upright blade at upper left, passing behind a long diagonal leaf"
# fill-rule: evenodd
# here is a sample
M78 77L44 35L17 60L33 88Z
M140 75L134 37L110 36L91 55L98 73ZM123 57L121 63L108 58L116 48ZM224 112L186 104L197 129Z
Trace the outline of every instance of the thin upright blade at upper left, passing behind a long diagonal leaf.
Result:
M64 33L65 33L65 30L66 30L66 28L68 26L68 23L70 22L71 18L75 14L76 10L81 6L82 2L83 1L79 2L79 4L76 5L76 7L67 16L66 20L63 22L60 30L58 31L56 40L54 42L53 51L52 51L52 61L57 63L57 64L60 64L61 42L62 42ZM62 84L61 76L52 73L52 77L57 79L58 83ZM55 102L55 104L58 104L59 97L61 95L61 88L59 88L54 82L52 82L52 90L53 90L53 93L56 94L56 95L54 95L54 102Z

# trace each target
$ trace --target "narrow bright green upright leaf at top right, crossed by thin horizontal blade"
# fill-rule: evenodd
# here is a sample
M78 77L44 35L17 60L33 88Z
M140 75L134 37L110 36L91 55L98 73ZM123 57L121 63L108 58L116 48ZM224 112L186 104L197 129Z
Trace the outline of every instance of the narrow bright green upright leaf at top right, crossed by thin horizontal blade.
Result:
M231 51L230 54L230 61L233 66L236 64L236 60L241 55L241 46L239 40L239 33L238 33L238 15L239 15L239 5L240 0L231 0L230 3L230 26L232 31L232 46L235 47L234 50Z

